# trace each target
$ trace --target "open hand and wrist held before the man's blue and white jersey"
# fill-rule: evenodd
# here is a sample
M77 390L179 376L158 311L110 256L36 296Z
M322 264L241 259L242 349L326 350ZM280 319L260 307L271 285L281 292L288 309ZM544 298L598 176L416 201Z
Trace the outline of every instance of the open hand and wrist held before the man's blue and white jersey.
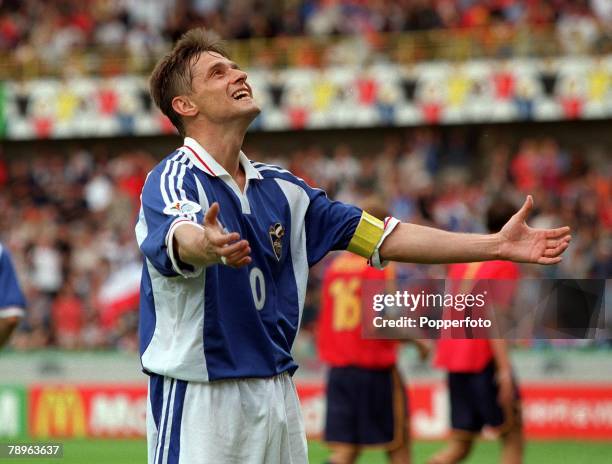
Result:
M247 240L240 240L237 232L226 232L217 219L219 203L213 203L206 211L204 230L179 226L174 232L178 256L182 262L194 266L225 264L239 268L251 263L251 247Z

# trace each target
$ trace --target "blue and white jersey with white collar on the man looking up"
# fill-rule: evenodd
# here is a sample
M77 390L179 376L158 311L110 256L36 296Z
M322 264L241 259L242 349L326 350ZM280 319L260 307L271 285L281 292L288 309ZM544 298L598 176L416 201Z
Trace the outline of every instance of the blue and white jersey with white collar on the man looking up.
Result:
M187 137L147 177L136 225L145 257L140 353L146 371L213 381L297 368L291 346L308 269L330 250L347 248L362 211L330 201L279 167L251 162L243 153L240 163L244 192ZM198 227L214 202L222 225L249 241L248 266L194 269L174 256L175 228Z

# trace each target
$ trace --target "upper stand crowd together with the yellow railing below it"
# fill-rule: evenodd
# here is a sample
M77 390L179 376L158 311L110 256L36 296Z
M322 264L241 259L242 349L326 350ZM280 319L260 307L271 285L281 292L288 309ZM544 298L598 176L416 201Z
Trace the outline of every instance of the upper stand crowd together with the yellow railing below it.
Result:
M142 72L194 26L235 41L232 55L258 66L342 62L351 59L351 53L344 53L347 47L365 47L372 52L369 58L383 55L395 61L446 52L505 57L576 54L610 50L612 2L2 0L0 68L20 70L24 77ZM466 30L472 31L467 37ZM391 38L402 32L411 36ZM352 40L342 45L343 53L332 50L339 38Z

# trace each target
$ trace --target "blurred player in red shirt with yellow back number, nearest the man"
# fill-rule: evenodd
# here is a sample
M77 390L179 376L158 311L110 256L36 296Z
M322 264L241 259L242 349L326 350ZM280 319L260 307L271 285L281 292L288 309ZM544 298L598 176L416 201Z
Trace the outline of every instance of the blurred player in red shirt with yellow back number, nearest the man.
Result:
M367 209L384 218L379 205ZM394 278L393 265L378 270L350 253L338 255L325 273L317 344L330 366L325 420L330 464L354 463L364 447L385 449L393 464L410 462L408 402L396 368L399 341L362 336L364 283L367 291L374 285L382 293ZM425 359L428 346L415 344Z

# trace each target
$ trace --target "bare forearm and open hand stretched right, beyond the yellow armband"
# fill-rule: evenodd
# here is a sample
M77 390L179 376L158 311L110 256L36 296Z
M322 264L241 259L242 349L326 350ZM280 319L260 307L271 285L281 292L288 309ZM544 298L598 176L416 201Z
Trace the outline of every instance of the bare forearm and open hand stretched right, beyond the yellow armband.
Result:
M399 224L380 247L381 260L424 264L469 263L503 259L522 263L556 264L568 247L569 227L534 229L526 220L531 195L521 209L495 234L461 234L417 224Z

